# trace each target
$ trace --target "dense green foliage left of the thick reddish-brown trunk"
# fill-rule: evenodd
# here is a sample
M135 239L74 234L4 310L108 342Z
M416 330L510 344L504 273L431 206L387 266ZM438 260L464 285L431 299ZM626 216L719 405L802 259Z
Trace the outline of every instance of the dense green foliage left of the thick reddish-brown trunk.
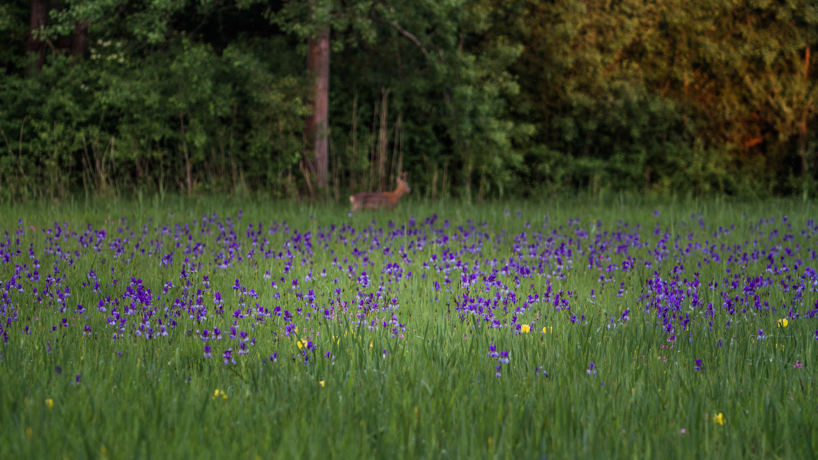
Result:
M47 162L64 171L73 167L75 174L58 175L59 196L64 196L78 186L92 192L147 187L163 193L182 187L184 148L200 190L232 190L242 185L245 170L256 180L294 163L305 108L300 70L282 65L293 60L287 43L281 37L236 38L216 52L174 31L156 45L156 30L169 25L151 29L143 19L158 17L155 8L173 5L173 11L185 6L151 3L134 13L132 23L92 34L108 38L92 40L87 59L79 63L58 53L36 74L5 77L2 100L9 103L0 110L0 127L7 133L23 131L17 149L23 170L51 184ZM84 2L79 7L97 7L104 16L117 5ZM102 21L92 32L105 26L113 24ZM154 38L145 42L149 35ZM32 121L24 125L27 119ZM43 153L47 142L56 152L53 159ZM43 193L20 174L12 180L14 160L3 160L7 193L20 190L16 186Z

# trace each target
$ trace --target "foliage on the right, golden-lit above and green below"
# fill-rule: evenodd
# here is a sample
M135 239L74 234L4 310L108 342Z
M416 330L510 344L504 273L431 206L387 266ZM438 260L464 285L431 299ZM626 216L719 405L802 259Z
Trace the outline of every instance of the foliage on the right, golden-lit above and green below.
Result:
M564 0L512 16L499 26L526 51L512 65L522 97L511 106L536 120L533 151L570 156L559 161L572 165L559 173L563 186L593 188L603 174L613 189L736 193L729 184L762 156L777 175L755 175L751 188L785 192L788 160L775 158L776 144L792 158L800 122L814 138L815 80L803 59L818 38L814 2ZM671 158L682 152L721 159L707 185L673 178L674 164L690 163ZM536 154L528 164L534 174L544 166ZM553 183L551 174L535 177Z

